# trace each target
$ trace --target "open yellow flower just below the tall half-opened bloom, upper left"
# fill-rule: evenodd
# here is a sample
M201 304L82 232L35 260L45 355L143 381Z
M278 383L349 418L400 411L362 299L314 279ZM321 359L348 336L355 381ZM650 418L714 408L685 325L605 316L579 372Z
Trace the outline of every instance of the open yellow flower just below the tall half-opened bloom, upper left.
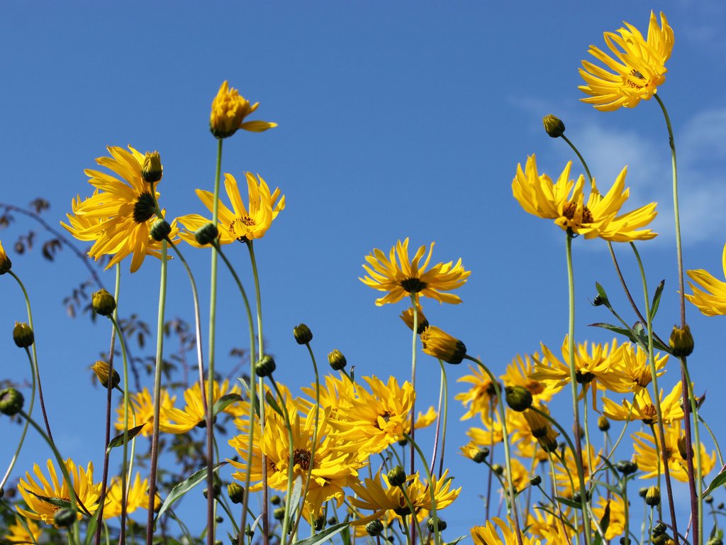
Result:
M255 177L251 172L245 172L250 206L245 208L240 195L237 180L232 174L224 174L224 189L227 190L232 210L224 203L219 203L219 243L229 244L234 241L252 241L262 238L272 225L272 220L285 209L285 195L280 197L277 187L270 193L267 183L261 176ZM214 194L209 191L197 189L197 197L204 205L213 211ZM279 199L279 201L278 201ZM209 223L209 220L199 214L187 214L179 218L188 233L181 233L181 238L192 246L200 248L194 233Z

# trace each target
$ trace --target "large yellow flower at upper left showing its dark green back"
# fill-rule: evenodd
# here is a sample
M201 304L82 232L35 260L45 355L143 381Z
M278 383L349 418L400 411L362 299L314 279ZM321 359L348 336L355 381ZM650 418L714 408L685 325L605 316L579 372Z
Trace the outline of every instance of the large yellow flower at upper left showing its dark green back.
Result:
M113 255L107 269L131 254L131 273L135 273L147 255L160 257L161 243L151 237L151 227L156 220L155 199L158 200L159 195L153 184L142 178L142 153L131 146L131 152L116 146L107 149L111 157L100 157L96 162L121 179L87 169L89 183L97 191L85 201L71 201L73 214L66 214L70 225L62 222L61 225L78 240L95 241L89 251L94 259ZM169 238L174 239L176 233L175 219L171 222Z

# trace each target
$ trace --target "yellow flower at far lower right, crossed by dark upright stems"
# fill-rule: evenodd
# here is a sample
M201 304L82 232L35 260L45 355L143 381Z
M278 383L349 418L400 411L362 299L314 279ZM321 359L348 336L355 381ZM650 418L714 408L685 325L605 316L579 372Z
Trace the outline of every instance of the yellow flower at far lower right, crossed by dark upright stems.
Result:
M670 469L671 477L680 480L681 483L688 483L688 465L678 449L678 440L683 437L680 421L674 421L672 424L666 425L664 435L666 437L665 452L668 455L668 468ZM661 458L663 448L660 434L656 432L658 449L656 449L656 443L653 441L653 435L650 433L635 432L631 437L635 440L633 449L635 450L637 467L643 472L640 478L648 479L650 477L656 477L658 470L663 471L663 459ZM693 443L693 448L697 448L695 442ZM701 443L701 469L703 470L703 477L709 475L711 470L714 469L715 464L716 453L711 451L711 455L709 456L709 453L706 452L706 447Z

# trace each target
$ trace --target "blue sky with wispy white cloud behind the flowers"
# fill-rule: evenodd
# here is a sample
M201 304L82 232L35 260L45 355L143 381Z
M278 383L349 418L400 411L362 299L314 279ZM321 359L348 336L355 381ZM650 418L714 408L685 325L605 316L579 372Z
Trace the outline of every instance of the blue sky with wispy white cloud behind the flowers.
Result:
M83 169L106 155L106 145L159 150L159 190L168 214L202 212L194 190L211 189L216 142L208 115L224 79L260 102L256 118L280 124L227 140L223 171L238 179L242 171L257 172L287 198L256 254L267 346L282 382L292 387L311 381L306 353L292 336L299 322L313 329L319 360L337 347L358 375L409 376L409 334L397 318L404 304L375 307L378 294L358 280L366 254L388 251L405 237L412 246L436 241L434 262L461 257L472 271L458 292L462 304L428 303L425 311L497 374L539 342L559 347L567 327L564 235L526 214L511 195L515 167L529 154L537 153L540 169L553 177L572 158L564 142L544 134L546 113L563 118L600 187L609 187L627 164L630 207L658 201L660 236L640 251L653 287L666 279L657 326L667 336L677 321L677 294L670 158L660 110L650 101L600 113L579 102L584 95L577 89L587 47L604 47L603 31L615 31L623 20L645 31L650 9L666 13L676 39L659 94L679 150L685 266L721 275L726 45L720 34L726 7L717 1L5 2L0 9L0 201L25 206L43 196L52 205L44 214L52 225L65 218L71 198L90 193ZM18 222L0 236L32 298L57 440L81 461L89 437L101 437L103 396L91 387L87 366L106 350L108 328L65 316L62 297L86 279L70 252L46 264L37 250L12 251L28 227ZM609 341L587 328L609 319L587 302L595 280L627 314L606 246L577 240L574 247L576 336ZM632 255L626 246L617 251L640 294ZM186 254L205 299L208 255ZM232 259L251 288L245 249ZM178 265L170 267L168 316L191 319L189 287ZM125 262L122 314L137 312L155 323L158 262L148 259L134 275L128 270ZM113 273L104 278L113 285ZM224 355L244 346L247 334L237 292L227 275L221 278L218 346L222 365L231 367ZM0 331L7 331L0 335L3 377L21 380L26 363L10 331L25 309L9 278L0 290ZM687 312L697 344L693 379L697 391L709 395L705 418L716 420L722 408L710 383L724 378L723 319L705 318L693 307ZM422 356L419 365L419 405L434 403L436 362ZM464 373L464 366L450 368L450 382ZM666 387L676 374L669 371ZM457 422L461 408L452 406L448 456L461 482L479 468L456 451L465 443L465 426ZM713 424L723 436L726 426ZM15 433L1 421L0 432L9 430ZM92 443L93 459L100 467L98 443ZM28 444L17 475L23 462L29 467L46 458L38 449ZM470 507L476 494L465 491L462 499L469 506L448 514L452 537L482 521L481 511Z

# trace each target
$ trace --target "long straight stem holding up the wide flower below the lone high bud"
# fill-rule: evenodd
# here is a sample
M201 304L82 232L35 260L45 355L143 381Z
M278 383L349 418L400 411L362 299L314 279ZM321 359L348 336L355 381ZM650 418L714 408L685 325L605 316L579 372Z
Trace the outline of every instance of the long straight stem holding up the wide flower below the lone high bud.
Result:
M578 154L579 155L579 154ZM580 441L580 413L577 403L577 379L575 374L575 279L572 267L572 238L570 230L566 234L567 286L569 293L569 325L568 325L568 365L570 367L570 385L572 389L572 414L574 417L574 460L577 467L577 479L580 485L580 503L582 505L583 533L585 543L590 545L590 514L587 512L587 490L585 489L584 470L582 468L582 443Z

